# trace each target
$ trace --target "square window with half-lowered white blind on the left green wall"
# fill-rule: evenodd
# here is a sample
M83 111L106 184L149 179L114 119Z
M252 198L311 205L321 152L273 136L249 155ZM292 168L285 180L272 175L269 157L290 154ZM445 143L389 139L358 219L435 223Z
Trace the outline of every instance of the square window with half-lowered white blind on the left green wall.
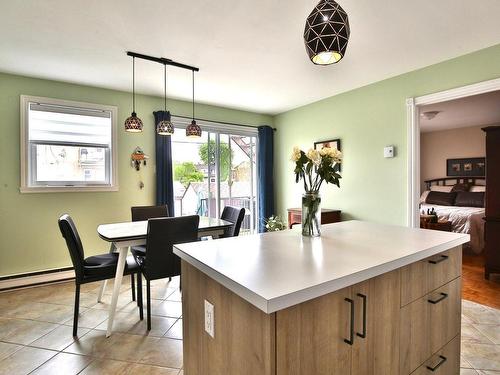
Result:
M21 192L116 191L116 107L21 96Z

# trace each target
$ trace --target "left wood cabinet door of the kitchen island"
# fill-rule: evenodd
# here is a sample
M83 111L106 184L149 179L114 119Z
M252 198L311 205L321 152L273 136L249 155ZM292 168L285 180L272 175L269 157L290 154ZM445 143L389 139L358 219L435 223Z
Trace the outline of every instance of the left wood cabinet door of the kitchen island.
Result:
M353 302L345 288L278 311L276 374L349 375Z

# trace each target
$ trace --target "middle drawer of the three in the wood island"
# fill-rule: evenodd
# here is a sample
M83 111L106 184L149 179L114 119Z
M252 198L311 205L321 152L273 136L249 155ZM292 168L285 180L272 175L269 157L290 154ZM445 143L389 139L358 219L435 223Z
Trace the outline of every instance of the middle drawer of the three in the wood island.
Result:
M459 333L460 311L460 277L401 308L401 374L416 370Z

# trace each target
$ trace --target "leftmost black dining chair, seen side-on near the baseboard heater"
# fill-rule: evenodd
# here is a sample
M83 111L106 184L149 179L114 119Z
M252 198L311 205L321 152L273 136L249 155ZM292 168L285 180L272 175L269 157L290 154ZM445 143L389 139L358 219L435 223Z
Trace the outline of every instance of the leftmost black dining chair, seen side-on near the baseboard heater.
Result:
M73 336L77 335L78 331L78 311L80 307L80 285L113 279L116 274L118 264L118 253L107 253L90 256L85 258L82 241L76 230L75 223L68 214L64 214L59 218L59 229L66 240L66 245L71 256L71 262L75 269L75 310L73 316ZM140 270L133 257L127 257L125 264L124 275L133 275L137 273L138 283L140 279ZM139 285L138 285L139 286ZM132 296L134 292L132 291ZM134 298L132 298L134 299Z

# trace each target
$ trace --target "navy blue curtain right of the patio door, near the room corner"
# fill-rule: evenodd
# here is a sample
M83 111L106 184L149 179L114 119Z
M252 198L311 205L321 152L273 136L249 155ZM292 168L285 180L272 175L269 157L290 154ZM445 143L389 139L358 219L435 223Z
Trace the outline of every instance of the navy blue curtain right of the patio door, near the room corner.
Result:
M259 126L259 153L257 157L257 184L259 192L259 232L265 231L264 220L274 215L274 129Z

